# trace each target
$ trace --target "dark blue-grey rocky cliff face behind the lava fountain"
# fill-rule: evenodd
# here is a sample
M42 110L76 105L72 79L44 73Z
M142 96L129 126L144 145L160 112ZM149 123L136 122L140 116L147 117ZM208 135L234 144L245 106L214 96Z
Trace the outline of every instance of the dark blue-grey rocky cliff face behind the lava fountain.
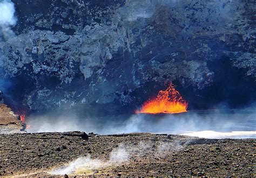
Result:
M132 111L170 81L191 108L255 99L253 1L12 2L16 35L0 42L12 103Z

